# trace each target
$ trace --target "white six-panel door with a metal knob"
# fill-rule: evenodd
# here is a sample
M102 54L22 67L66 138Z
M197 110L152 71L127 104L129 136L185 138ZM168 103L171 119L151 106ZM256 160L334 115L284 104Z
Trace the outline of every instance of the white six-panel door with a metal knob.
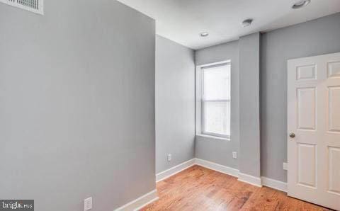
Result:
M340 53L288 61L288 195L340 210Z

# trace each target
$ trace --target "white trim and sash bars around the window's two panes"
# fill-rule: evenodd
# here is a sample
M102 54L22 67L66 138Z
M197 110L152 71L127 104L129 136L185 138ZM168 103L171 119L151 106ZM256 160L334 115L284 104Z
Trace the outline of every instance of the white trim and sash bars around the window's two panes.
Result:
M205 102L229 102L229 108L230 108L230 115L231 115L231 102L232 102L232 96L231 96L231 79L230 79L230 84L229 84L229 89L230 89L230 97L229 99L218 99L218 100L205 100L204 99L204 69L208 69L208 68L212 68L212 67L220 67L220 66L227 66L229 65L230 66L230 77L231 77L231 67L232 67L232 64L230 62L230 60L228 61L224 61L224 62L216 62L216 63L212 63L212 64L205 64L205 65L201 65L200 66L200 78L201 78L201 81L200 81L200 90L201 90L201 93L200 93L200 134L201 135L208 135L208 136L212 136L212 137L220 137L220 138L223 138L223 139L230 139L231 135L223 135L223 134L219 134L219 133L214 133L214 132L205 132L205 129L204 129L204 125L205 125L205 118L204 118L204 104ZM229 125L231 127L231 116L230 116L230 122L229 122ZM231 128L230 128L231 130Z

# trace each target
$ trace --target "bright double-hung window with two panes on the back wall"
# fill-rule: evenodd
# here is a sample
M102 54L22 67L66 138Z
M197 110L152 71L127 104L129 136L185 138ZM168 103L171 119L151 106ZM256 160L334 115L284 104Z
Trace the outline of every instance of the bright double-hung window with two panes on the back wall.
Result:
M202 67L202 133L230 137L230 63Z

